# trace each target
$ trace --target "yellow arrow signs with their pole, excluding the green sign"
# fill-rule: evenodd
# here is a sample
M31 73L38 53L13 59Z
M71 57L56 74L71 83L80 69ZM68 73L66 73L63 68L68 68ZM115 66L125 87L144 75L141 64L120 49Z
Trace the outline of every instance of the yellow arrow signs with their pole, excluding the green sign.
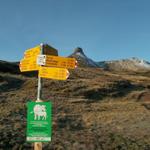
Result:
M26 50L19 65L21 72L38 71L36 102L42 102L42 78L66 80L69 77L69 71L66 68L74 69L76 67L77 61L74 58L58 57L58 51L47 44ZM34 150L42 150L42 143L35 142Z

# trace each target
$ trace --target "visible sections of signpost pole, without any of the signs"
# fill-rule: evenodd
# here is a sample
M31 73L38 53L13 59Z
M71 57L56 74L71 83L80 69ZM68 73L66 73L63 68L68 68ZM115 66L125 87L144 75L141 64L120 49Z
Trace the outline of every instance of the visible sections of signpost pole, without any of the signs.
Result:
M43 54L43 43L40 44L41 46L41 54ZM38 90L37 90L37 100L36 102L42 102L42 78L38 76ZM42 150L42 142L35 142L34 143L34 150Z

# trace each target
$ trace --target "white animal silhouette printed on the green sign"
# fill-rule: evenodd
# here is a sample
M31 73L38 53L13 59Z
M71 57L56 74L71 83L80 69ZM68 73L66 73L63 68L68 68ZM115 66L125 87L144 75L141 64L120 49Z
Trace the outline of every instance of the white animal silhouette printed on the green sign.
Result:
M46 113L46 106L45 105L35 105L33 108L34 112L34 120L46 120L47 113Z

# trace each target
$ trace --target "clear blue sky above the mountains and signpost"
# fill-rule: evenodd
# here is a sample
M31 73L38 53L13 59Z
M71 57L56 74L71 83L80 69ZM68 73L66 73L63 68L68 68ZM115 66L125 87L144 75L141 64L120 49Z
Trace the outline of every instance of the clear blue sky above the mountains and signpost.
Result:
M149 0L0 0L0 59L19 61L42 42L96 61L150 61Z

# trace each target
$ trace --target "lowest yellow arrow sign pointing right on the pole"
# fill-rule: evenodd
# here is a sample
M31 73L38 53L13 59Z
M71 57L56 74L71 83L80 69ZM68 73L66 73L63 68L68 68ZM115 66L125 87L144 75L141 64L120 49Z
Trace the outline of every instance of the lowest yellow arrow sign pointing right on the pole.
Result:
M69 71L64 68L39 68L39 77L56 80L66 80L69 77Z

